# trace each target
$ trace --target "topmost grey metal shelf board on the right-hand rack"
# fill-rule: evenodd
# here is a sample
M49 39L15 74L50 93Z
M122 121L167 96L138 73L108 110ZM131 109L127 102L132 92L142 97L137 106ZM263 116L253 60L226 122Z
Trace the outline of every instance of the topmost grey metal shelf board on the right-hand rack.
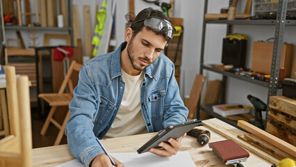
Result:
M275 19L235 19L235 20L227 20L227 19L218 19L218 20L207 20L206 24L241 24L241 25L274 25L277 20ZM286 19L286 26L295 26L295 19Z

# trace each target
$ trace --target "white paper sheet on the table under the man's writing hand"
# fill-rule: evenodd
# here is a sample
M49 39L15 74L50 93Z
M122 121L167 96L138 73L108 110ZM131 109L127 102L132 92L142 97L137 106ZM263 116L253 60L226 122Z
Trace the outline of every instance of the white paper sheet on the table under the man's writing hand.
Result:
M189 152L178 152L172 157L161 157L151 152L145 152L143 154L138 154L137 152L116 152L110 153L110 155L121 161L124 167L195 167ZM56 167L84 167L84 165L77 159L74 159Z

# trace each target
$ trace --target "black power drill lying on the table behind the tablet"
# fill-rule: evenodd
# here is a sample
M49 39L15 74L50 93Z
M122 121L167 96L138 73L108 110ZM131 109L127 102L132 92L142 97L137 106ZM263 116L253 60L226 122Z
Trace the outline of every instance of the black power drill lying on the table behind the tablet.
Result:
M197 142L201 145L206 145L211 138L211 133L204 129L198 129L197 127L191 129L187 132L189 136L193 136L197 138Z

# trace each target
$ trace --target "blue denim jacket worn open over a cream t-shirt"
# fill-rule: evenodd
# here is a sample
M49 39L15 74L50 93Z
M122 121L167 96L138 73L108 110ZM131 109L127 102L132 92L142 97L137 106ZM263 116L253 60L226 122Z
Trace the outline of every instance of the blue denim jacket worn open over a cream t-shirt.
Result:
M108 132L122 102L124 81L120 53L125 46L123 42L116 51L90 59L79 72L65 134L70 152L85 166L103 152L96 137L103 138ZM145 68L140 91L142 116L148 132L159 132L187 120L188 109L179 94L174 64L165 55L161 54Z

